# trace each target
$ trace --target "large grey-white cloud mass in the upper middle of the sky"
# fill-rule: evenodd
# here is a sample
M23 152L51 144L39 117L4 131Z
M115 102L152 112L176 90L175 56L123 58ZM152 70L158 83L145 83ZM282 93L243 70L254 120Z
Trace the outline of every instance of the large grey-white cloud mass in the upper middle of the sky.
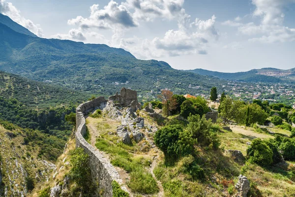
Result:
M68 25L76 25L85 33L95 29L111 30L112 40L108 42L111 46L124 48L144 59L207 54L208 42L219 36L214 27L216 17L213 15L208 20L196 18L190 22L191 16L186 14L183 3L184 0L126 0L119 4L111 0L103 9L99 9L98 4L92 5L89 17L77 16L68 20ZM163 38L123 38L130 28L155 19L174 20L178 29L167 31Z

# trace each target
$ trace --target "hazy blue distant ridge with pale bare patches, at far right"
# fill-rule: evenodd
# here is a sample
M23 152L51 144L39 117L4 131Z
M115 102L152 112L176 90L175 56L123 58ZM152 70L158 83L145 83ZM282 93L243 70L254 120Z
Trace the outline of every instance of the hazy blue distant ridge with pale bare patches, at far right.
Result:
M261 68L252 69L246 72L217 72L210 71L202 68L197 68L193 70L187 70L193 73L215 76L221 79L227 80L238 80L244 82L270 82L278 83L286 80L292 80L295 76L295 68L288 70L278 69L278 68Z

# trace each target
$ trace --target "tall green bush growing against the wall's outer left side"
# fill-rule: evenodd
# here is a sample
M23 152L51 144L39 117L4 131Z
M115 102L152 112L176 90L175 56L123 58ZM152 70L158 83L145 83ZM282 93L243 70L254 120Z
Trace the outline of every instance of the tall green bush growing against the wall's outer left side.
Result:
M82 148L76 148L70 152L71 159L71 169L69 172L69 177L73 179L77 185L84 190L89 187L89 155L84 153Z

